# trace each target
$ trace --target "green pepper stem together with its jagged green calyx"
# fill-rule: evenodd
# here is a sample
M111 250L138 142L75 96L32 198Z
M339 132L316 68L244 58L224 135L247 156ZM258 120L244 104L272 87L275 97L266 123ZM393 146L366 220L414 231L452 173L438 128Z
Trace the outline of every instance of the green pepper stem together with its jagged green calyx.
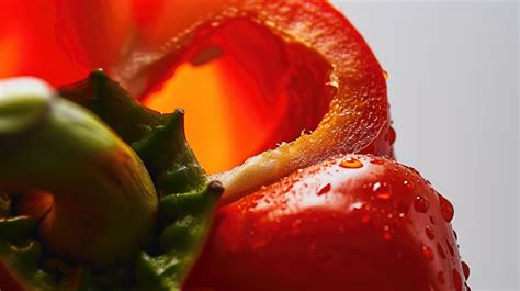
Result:
M65 239L76 239L77 245L83 246L79 249L89 245L90 259L72 258L68 251L59 254L59 247L49 247L56 237L48 240L42 235L48 213L41 221L26 217L31 221L25 224L8 222L24 216L16 212L20 198L2 194L0 189L0 214L8 213L8 217L0 219L0 232L8 234L0 235L0 264L4 260L11 266L31 290L180 290L204 245L223 192L218 182L207 182L185 141L182 110L160 114L146 109L101 70L59 89L58 94L82 109L50 94L41 111L27 112L22 126L12 120L5 122L12 116L2 112L0 101L0 157L10 160L0 166L5 169L0 169L0 187L7 187L8 192L25 190L20 186L29 187L30 175L34 180L30 187L52 192L63 205L76 204L76 211L64 211L61 217L70 219L80 210L81 215L90 219L106 214L113 224L97 224L91 234L81 238L65 233ZM5 112L14 111L14 107L9 108ZM101 127L77 123L77 115L83 113ZM64 128L59 132L57 127ZM27 141L33 146L26 145ZM14 155L7 150L23 154L23 159L10 158ZM139 167L140 160L146 168ZM29 172L20 175L23 167ZM44 184L42 174L57 178L56 186ZM126 183L128 179L135 182ZM91 189L95 193L86 195ZM138 203L128 202L128 195L138 198ZM144 219L148 216L152 217L151 223ZM136 231L142 225L148 225L147 232ZM110 227L113 232L105 231ZM104 246L110 251L92 247L95 235L104 236ZM126 240L132 248L124 246ZM27 245L41 249L31 260L13 250ZM113 264L117 266L111 267Z

